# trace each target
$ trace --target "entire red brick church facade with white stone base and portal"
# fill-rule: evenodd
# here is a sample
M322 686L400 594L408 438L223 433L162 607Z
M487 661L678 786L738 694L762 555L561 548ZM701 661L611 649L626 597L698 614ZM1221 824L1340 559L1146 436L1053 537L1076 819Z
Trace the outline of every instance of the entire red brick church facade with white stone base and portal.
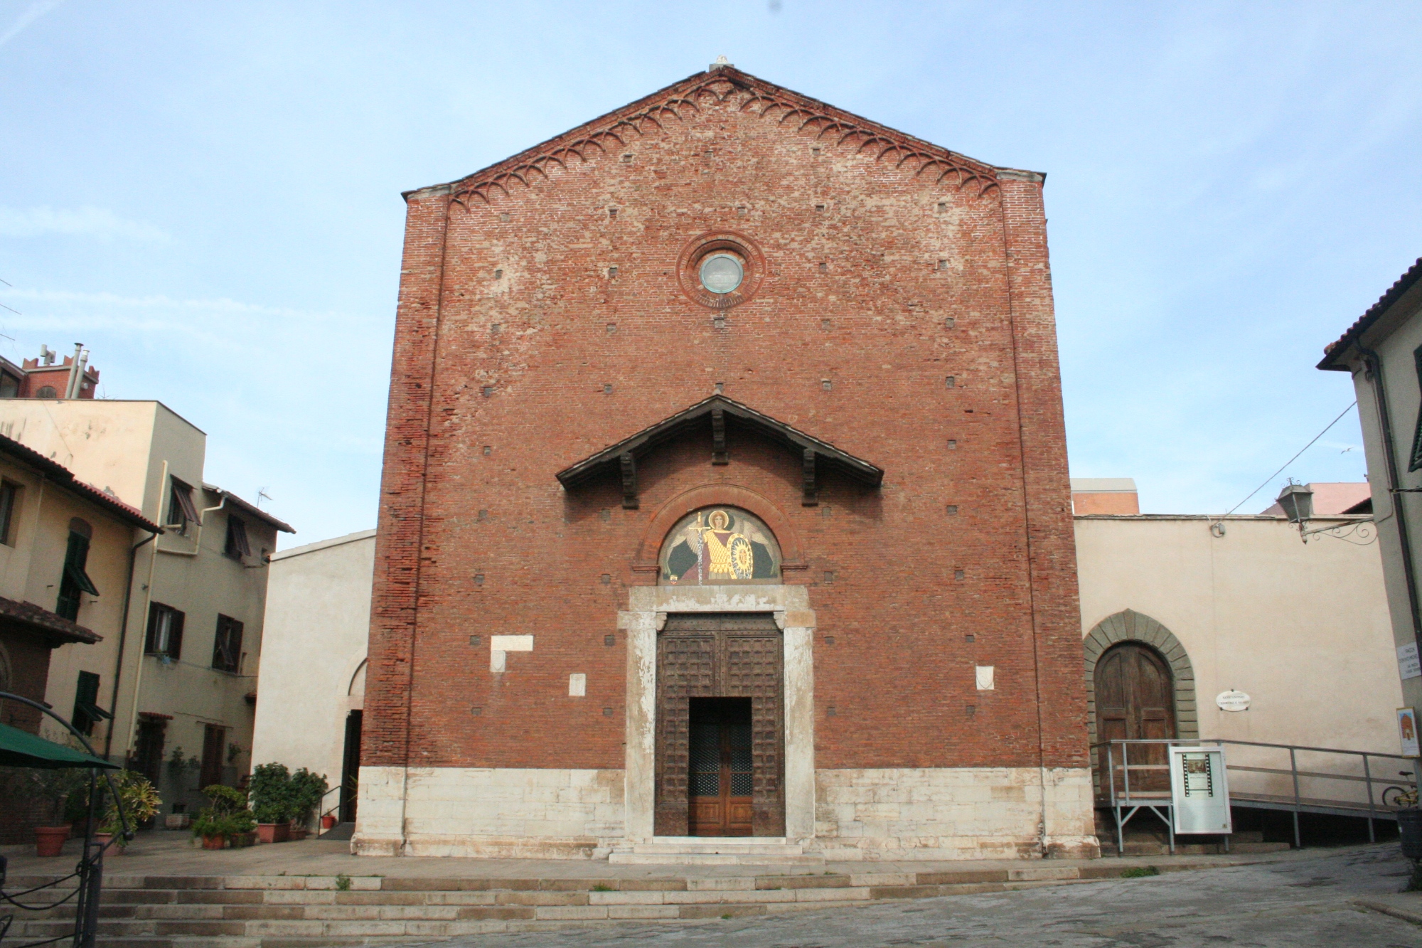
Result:
M1096 853L1042 175L718 64L405 199L357 853Z

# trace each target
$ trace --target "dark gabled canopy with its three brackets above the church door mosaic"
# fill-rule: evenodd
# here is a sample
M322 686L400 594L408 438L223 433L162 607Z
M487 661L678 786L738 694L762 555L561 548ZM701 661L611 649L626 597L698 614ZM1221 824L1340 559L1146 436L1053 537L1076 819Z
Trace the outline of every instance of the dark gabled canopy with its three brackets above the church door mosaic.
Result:
M879 487L883 483L883 468L840 451L829 441L798 431L784 421L734 399L717 394L695 403L684 411L663 418L651 427L603 448L597 454L563 468L557 480L563 490L572 490L594 478L616 473L621 477L623 507L637 507L637 461L664 441L693 431L708 428L711 434L711 463L725 464L729 457L728 437L737 430L749 430L764 438L784 446L801 461L803 477L802 502L806 507L818 504L819 478L825 471L836 471L860 484Z

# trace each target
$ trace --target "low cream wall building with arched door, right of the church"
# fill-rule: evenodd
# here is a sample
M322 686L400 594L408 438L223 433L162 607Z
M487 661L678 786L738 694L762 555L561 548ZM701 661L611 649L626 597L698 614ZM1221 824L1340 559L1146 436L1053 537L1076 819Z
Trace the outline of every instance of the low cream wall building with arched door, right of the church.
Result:
M1308 542L1281 512L1076 515L1092 743L1202 737L1399 753L1378 528L1367 514L1328 510L1355 505L1367 485L1317 487L1324 510L1305 527L1320 531ZM1361 757L1295 756L1303 770L1364 773ZM1281 749L1231 746L1227 757L1290 766ZM1374 763L1372 776L1396 776ZM1230 781L1236 796L1293 794L1290 776L1231 770ZM1367 796L1364 784L1325 779L1300 791Z

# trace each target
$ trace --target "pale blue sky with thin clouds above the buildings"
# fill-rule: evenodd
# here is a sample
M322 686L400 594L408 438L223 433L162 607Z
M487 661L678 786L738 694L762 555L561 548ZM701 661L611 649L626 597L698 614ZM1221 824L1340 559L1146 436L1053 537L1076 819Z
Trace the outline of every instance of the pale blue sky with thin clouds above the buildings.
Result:
M0 354L208 433L297 535L374 525L404 204L727 56L1047 172L1075 477L1146 512L1362 480L1314 369L1422 255L1416 3L0 0Z

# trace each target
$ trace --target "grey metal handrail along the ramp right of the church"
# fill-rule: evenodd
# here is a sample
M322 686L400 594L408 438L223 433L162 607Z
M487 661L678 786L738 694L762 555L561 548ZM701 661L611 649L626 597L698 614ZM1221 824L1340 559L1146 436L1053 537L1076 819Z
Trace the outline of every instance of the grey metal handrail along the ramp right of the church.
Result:
M1408 757L1405 754L1389 754L1389 753L1374 752L1374 750L1344 750L1341 747L1310 747L1310 746L1305 746L1305 744L1276 744L1276 743L1267 743L1267 742L1260 742L1260 740L1231 740L1231 739L1226 739L1226 737L1212 737L1212 739L1202 739L1202 737L1169 737L1169 739L1166 739L1166 737L1122 737L1122 739L1118 739L1118 740L1096 742L1095 744L1089 746L1089 750L1092 750L1092 752L1101 750L1102 747L1106 749L1106 766L1108 766L1108 774L1106 776L1109 779L1109 794L1111 794L1109 800L1111 800L1112 809L1118 811L1118 824L1121 824L1119 809L1121 809L1122 803L1125 803L1125 806L1130 806L1130 803L1133 800L1145 800L1146 799L1146 797L1139 797L1139 796L1138 797L1132 797L1130 796L1130 771L1132 770L1167 770L1169 769L1167 766L1162 766L1162 764L1132 764L1132 763L1129 763L1129 750L1128 750L1129 744L1160 744L1160 746L1166 746L1166 747L1169 747L1172 744L1186 744L1186 746L1202 746L1202 744L1223 746L1223 744L1234 744L1234 746L1240 746L1240 747L1268 747L1268 749L1274 749L1274 750L1287 750L1288 752L1288 770L1283 770L1283 769L1277 769L1277 767L1250 767L1250 766L1244 766L1244 764L1231 764L1231 763L1226 763L1226 769L1227 770L1239 770L1239 771L1244 771L1244 773L1271 773L1271 774L1277 774L1277 776L1288 774L1288 777L1290 777L1290 780L1293 783L1293 790L1294 790L1293 791L1294 848L1303 848L1303 837L1300 834L1300 827L1298 827L1298 814L1303 811L1301 807L1303 807L1303 799L1304 797L1300 793L1300 787L1298 787L1300 777L1307 777L1307 779L1314 779L1314 780L1354 781L1354 783L1362 783L1364 786L1367 786L1367 789L1368 789L1368 807L1367 807L1367 814L1368 814L1368 817L1367 817L1367 820L1368 820L1368 840L1374 841L1374 843L1376 841L1376 830L1374 827L1374 820L1376 818L1376 814L1382 813L1385 810L1391 810L1392 809L1392 807L1386 807L1385 804L1379 804L1378 803L1376 797L1374 796L1374 784L1381 783L1385 787L1388 787L1388 786L1399 786L1399 784L1401 786L1409 786L1409 787L1416 787L1418 786L1416 770L1413 770L1413 776L1412 776L1411 780L1406 779L1405 774L1399 774L1398 776L1399 779L1382 779L1382 777L1372 776L1372 763L1371 763L1371 759L1378 759L1378 760L1402 760L1402 762L1406 762L1408 764L1413 764L1413 759ZM1115 763L1115 753L1113 753L1113 747L1116 747L1116 746L1121 747L1121 767L1119 767L1119 770L1122 771L1122 779L1123 779L1122 783L1123 783L1123 789L1125 789L1125 796L1121 797L1121 799L1116 797L1116 770L1118 770L1118 767L1116 767L1116 763ZM1349 757L1361 757L1361 760L1362 760L1362 776L1359 777L1357 774L1318 773L1315 770L1300 770L1298 769L1298 753L1300 752L1303 752L1303 753L1324 753L1324 754L1344 754L1344 756L1349 756ZM1098 754L1092 753L1091 756L1092 756L1092 769L1099 771L1099 766L1096 763ZM1145 806L1145 804L1142 804L1142 806ZM1136 810L1139 810L1139 809L1140 809L1140 806L1136 806L1132 810L1132 816L1135 816ZM1155 807L1150 807L1150 809L1153 810ZM1160 814L1156 813L1156 816L1160 816ZM1126 817L1126 818L1129 820L1129 817ZM1166 823L1169 823L1169 820L1166 820ZM1173 827L1172 827L1172 830L1173 830ZM1123 843L1123 838L1122 838L1122 827L1118 826L1118 848L1123 848L1123 846L1125 846L1125 843ZM1175 834L1173 834L1173 831L1172 831L1172 836L1170 836L1170 851L1172 853L1175 851Z

